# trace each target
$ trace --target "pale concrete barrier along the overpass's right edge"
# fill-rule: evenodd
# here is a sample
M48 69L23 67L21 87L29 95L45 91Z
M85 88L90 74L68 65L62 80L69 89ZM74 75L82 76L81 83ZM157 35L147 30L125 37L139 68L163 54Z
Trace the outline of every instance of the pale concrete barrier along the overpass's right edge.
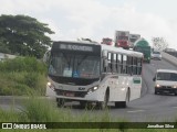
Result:
M162 52L162 56L165 61L169 62L170 64L177 66L177 57L174 57L165 52Z

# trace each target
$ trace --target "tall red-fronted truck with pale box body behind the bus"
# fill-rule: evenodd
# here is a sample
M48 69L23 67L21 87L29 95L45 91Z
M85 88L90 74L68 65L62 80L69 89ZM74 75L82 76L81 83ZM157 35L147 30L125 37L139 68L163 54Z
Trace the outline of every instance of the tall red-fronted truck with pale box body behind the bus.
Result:
M115 31L115 46L129 50L129 31Z

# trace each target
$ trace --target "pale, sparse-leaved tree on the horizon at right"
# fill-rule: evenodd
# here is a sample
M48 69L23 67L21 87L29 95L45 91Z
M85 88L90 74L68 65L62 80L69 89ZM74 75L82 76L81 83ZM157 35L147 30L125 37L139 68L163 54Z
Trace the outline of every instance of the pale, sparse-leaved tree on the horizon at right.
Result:
M163 51L168 47L168 43L164 37L153 37L153 47L158 51Z

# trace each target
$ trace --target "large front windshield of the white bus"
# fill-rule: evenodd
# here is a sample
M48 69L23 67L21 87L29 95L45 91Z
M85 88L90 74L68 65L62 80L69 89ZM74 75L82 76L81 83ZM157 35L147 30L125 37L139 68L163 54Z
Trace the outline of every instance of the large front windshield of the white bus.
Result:
M93 79L100 77L98 56L56 52L51 55L49 74L60 77Z

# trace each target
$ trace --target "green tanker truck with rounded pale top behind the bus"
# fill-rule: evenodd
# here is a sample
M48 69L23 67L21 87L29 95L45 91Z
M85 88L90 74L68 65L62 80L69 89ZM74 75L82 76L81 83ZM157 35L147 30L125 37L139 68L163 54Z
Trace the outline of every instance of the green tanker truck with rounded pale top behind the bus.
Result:
M150 63L152 47L145 38L139 38L134 43L134 51L144 54L144 62Z

